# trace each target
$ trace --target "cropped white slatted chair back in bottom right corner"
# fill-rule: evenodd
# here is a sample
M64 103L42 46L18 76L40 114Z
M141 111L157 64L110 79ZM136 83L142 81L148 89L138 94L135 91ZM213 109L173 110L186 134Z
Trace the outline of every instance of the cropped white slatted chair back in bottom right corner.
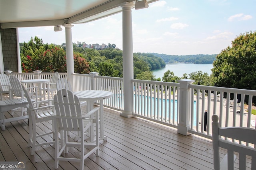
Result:
M239 154L239 169L245 170L248 166L248 162L251 163L251 167L248 169L256 169L256 129L246 127L219 127L218 115L212 115L212 147L213 147L213 164L214 170L233 170L234 161L236 155L234 152ZM220 137L225 137L230 140L234 139L239 142L248 144L244 145L237 142L224 140ZM220 147L227 149L228 153L224 156L220 162ZM251 161L248 158L251 156Z

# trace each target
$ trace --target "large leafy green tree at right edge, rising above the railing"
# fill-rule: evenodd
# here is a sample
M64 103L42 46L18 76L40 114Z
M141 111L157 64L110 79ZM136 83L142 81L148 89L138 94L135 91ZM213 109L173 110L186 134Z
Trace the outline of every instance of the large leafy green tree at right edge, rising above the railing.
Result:
M213 63L215 86L256 90L256 32L240 34Z

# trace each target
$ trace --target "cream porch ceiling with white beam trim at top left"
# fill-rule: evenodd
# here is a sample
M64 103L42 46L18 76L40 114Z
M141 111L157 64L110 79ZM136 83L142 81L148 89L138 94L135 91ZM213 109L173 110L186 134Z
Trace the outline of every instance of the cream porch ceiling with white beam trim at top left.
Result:
M156 0L148 0L148 3ZM122 11L135 0L1 0L1 28L86 23Z

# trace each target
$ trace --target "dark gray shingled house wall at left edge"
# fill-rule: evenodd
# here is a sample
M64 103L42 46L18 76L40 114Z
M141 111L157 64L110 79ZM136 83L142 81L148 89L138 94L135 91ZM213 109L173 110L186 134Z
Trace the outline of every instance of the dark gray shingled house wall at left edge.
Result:
M4 70L18 72L18 54L17 54L17 37L16 29L0 29Z

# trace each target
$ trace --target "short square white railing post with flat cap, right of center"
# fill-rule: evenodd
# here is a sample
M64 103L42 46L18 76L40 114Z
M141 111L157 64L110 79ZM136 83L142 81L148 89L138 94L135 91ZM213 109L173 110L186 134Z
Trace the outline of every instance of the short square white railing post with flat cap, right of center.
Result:
M192 84L195 80L182 79L180 83L180 98L179 98L179 123L178 133L182 135L190 135L190 113L191 113L191 89L188 84Z

